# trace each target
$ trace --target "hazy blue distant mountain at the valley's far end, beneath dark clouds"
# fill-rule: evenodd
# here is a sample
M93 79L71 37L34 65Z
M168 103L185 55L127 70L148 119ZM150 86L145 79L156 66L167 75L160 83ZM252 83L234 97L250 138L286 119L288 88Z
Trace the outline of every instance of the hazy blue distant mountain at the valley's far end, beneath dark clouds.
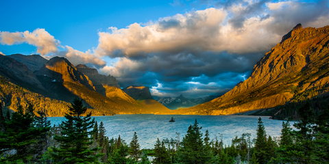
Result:
M159 98L158 102L160 102L162 105L169 109L180 109L180 108L186 108L186 107L193 107L195 105L202 104L204 102L208 102L210 100L213 100L214 98L218 98L219 96L207 96L205 98L192 98L187 99L182 94L176 98L172 97L164 97Z

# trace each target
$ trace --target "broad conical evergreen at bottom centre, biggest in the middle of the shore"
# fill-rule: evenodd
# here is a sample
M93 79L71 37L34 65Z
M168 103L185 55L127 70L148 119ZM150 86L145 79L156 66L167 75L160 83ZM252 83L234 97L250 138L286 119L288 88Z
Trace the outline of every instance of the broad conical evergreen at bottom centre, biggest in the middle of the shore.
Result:
M210 154L206 152L201 129L197 120L188 127L188 131L182 140L178 161L181 163L208 163Z

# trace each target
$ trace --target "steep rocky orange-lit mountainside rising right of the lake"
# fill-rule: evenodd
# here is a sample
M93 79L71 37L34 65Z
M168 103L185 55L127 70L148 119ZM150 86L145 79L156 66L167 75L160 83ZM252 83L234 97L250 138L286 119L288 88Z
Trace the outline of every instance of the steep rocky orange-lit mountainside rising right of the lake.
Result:
M329 26L297 25L258 61L251 76L221 96L180 113L225 115L284 105L295 96L328 85Z

